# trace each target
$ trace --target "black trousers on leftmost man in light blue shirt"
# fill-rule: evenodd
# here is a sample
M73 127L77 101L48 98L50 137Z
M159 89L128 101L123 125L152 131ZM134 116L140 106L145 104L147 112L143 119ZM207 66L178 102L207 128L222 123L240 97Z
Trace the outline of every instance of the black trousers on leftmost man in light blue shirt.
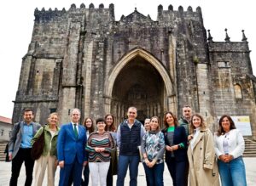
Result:
M20 176L20 168L23 161L25 162L26 169L26 182L25 186L32 185L32 174L35 161L31 157L31 148L20 148L15 158L12 160L12 176L10 178L9 186L17 186L18 178Z

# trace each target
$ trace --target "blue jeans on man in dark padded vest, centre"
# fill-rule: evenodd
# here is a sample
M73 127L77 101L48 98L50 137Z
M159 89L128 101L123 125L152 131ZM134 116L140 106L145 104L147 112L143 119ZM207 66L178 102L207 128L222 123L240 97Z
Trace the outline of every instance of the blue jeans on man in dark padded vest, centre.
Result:
M117 186L124 186L126 172L129 166L130 186L137 186L139 155L119 155Z

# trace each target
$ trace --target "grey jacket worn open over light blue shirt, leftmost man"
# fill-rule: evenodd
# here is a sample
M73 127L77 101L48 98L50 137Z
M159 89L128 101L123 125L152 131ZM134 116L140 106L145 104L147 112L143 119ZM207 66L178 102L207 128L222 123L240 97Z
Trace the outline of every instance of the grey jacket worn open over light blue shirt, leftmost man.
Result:
M33 136L34 136L38 131L38 129L41 127L41 125L35 122L32 122L31 125L33 127ZM15 155L17 155L20 149L21 138L23 135L23 130L20 130L20 129L21 128L23 129L23 126L24 126L24 121L17 122L15 123L15 126L12 130L11 137L9 139L9 153L12 153L12 158L15 158Z

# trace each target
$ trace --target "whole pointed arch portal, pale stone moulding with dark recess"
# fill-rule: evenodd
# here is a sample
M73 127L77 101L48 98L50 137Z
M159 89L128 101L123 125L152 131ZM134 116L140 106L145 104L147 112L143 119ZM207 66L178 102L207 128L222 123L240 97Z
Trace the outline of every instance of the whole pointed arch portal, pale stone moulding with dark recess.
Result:
M112 113L116 123L123 121L131 105L138 110L137 119L160 116L175 110L176 99L166 68L152 54L135 48L125 54L105 82L105 112Z

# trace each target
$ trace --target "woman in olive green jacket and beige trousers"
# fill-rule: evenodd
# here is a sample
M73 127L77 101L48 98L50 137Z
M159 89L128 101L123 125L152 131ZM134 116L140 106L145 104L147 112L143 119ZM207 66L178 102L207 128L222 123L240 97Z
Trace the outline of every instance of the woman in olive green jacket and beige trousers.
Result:
M48 125L41 127L34 138L32 138L32 144L40 138L41 135L44 135L44 151L43 154L36 161L35 165L35 186L41 186L44 181L44 172L46 168L48 169L48 186L55 185L55 171L58 165L57 162L57 137L60 128L58 127L58 114L51 113L48 118ZM43 144L43 143L42 143Z

